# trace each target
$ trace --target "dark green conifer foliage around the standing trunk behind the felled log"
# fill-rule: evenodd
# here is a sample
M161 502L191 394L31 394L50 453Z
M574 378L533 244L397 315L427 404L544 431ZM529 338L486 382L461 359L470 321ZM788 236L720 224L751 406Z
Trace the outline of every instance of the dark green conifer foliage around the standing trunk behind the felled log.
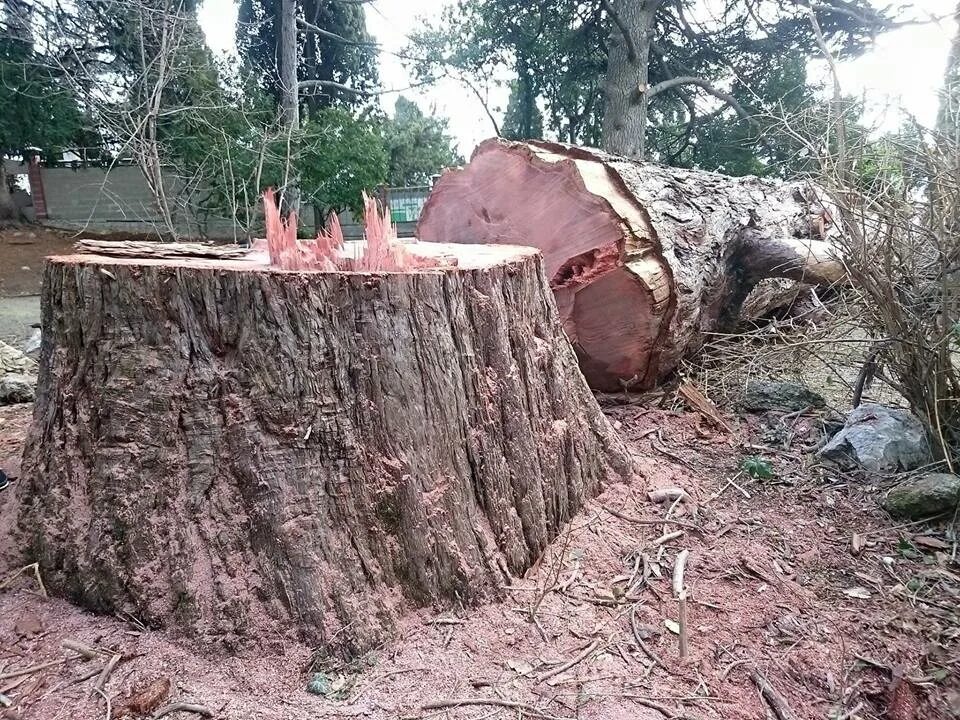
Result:
M616 3L613 3L616 5ZM543 134L565 142L601 144L607 54L622 42L603 0L460 0L439 22L414 36L422 78L451 69L476 85L495 70L513 69L507 137L538 137L535 114L545 108ZM782 115L812 98L806 64L819 56L807 10L800 3L747 0L722 4L719 14L697 0L663 3L655 18L649 84L691 76L732 90L749 114ZM887 18L868 0L818 9L823 32L846 56L861 52ZM747 123L698 86L657 94L648 114L651 159L731 174L786 172L787 161L766 140L770 123Z

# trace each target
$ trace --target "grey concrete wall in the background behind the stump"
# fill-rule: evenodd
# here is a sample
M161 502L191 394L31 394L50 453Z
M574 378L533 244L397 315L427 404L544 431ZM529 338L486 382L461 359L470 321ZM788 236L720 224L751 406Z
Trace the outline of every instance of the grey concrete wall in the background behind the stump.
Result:
M26 166L23 166L26 171ZM47 200L48 224L93 232L161 233L165 224L153 203L153 194L137 167L104 168L45 167L41 170ZM174 181L167 186L168 195L177 194ZM388 192L396 198L399 212L394 221L401 237L412 237L416 217L429 194L429 188L399 188ZM243 229L231 218L211 216L196 202L186 199L175 221L185 237L207 237L243 240ZM413 209L416 208L416 212ZM313 210L301 212L304 225L310 228ZM360 237L362 228L349 212L341 213L344 235Z

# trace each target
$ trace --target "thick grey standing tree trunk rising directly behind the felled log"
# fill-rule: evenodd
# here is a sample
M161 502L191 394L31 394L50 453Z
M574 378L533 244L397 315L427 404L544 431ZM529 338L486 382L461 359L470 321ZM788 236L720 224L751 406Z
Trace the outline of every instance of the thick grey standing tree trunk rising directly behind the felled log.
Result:
M603 147L614 155L642 160L646 151L650 43L662 0L607 0L604 4L613 22L607 55Z

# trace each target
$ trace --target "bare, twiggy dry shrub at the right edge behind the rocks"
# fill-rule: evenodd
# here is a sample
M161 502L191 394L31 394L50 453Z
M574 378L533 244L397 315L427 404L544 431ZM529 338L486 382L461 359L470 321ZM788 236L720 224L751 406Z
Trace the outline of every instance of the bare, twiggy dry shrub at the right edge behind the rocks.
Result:
M902 395L952 469L960 450L960 147L916 123L856 143L836 126L833 138L808 145L818 147L832 150L818 155L817 182L843 230L839 254L873 340L861 378Z

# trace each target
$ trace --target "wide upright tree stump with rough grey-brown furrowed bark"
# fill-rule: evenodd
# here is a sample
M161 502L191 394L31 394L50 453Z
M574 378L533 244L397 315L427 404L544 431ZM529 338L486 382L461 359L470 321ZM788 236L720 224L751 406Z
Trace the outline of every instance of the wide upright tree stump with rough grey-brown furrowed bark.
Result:
M352 654L495 597L632 459L531 248L409 272L52 258L19 527L86 607Z

